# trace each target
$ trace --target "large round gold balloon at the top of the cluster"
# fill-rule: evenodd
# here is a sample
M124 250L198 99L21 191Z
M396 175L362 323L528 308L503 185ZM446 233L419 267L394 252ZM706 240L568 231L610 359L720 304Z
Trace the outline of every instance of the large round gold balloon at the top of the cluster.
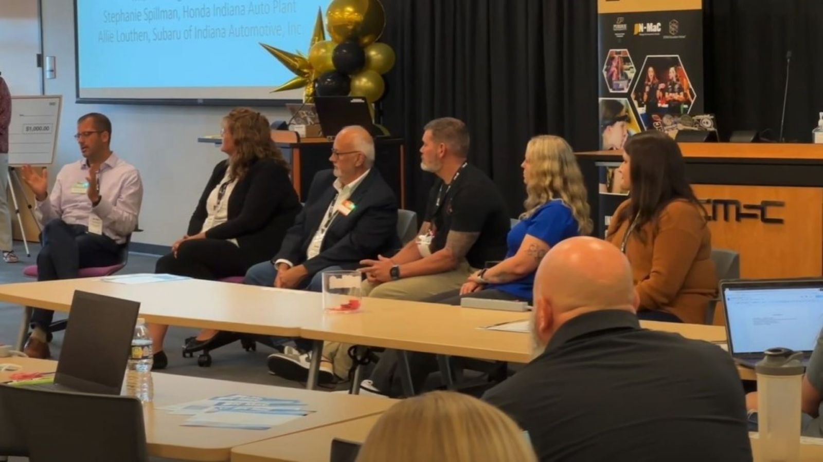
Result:
M383 35L386 12L379 0L333 0L326 22L336 43L357 39L361 47L367 47Z

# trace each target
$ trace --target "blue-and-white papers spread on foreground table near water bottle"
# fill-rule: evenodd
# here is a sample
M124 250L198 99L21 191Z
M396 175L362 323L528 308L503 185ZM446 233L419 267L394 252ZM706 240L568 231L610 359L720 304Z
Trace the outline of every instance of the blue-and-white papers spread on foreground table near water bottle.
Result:
M268 428L304 417L310 411L260 409L253 406L215 407L194 415L184 427L221 427L267 430Z

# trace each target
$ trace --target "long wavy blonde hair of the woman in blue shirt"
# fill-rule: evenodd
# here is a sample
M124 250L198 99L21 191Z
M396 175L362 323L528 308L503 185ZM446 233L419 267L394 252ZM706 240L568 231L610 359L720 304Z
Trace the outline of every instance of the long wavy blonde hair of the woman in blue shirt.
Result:
M523 201L526 211L520 219L532 216L546 202L560 199L572 210L580 234L592 233L594 226L583 173L569 143L560 136L534 136L526 146L526 160L532 169L526 184L528 196Z

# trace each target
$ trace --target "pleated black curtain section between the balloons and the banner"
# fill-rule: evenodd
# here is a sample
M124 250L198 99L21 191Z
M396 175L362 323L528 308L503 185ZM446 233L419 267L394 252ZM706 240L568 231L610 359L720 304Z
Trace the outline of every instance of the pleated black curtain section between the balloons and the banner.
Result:
M514 216L529 138L597 148L595 0L383 0L381 39L398 55L385 76L384 125L406 138L407 208L420 213L434 176L420 169L423 126L456 117L472 164L489 173Z

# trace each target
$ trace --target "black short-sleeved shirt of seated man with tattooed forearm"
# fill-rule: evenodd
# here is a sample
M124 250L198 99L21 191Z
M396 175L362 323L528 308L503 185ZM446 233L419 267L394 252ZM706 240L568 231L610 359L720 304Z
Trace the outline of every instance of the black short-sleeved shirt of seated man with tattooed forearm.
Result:
M438 205L439 198L439 205ZM500 190L481 169L467 164L451 187L437 179L429 192L425 221L432 224L435 237L431 252L446 246L449 230L480 233L466 259L474 268L486 261L500 261L506 255L506 236L511 222Z

